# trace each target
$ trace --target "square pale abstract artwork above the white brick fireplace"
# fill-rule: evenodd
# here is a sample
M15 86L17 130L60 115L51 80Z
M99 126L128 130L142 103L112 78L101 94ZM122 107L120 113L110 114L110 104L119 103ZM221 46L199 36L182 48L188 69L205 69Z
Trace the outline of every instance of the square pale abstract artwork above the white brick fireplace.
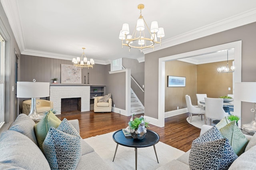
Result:
M81 67L74 65L61 64L60 65L61 83L82 83Z

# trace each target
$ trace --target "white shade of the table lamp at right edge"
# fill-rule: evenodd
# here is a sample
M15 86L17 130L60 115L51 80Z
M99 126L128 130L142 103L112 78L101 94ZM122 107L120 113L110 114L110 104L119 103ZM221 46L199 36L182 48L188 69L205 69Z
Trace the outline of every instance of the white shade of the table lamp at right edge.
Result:
M256 103L256 82L235 83L234 88L238 100Z

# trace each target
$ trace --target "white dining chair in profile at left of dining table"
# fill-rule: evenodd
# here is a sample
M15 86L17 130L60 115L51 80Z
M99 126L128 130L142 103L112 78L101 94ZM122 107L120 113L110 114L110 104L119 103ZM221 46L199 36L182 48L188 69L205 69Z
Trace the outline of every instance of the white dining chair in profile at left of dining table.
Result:
M190 122L192 122L192 115L193 114L201 115L201 121L202 121L203 120L202 116L205 113L204 109L198 108L197 106L193 106L192 103L191 103L191 99L190 99L189 95L186 95L185 98L186 98L186 104L187 104L187 108L188 108L188 117L190 119ZM205 116L204 116L204 124L206 124Z

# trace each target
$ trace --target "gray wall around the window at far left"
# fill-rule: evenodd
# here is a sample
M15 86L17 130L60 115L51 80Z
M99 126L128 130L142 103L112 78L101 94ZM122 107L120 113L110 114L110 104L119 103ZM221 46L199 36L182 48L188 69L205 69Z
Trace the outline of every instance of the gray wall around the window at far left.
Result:
M5 122L11 123L16 119L15 115L15 51L20 56L20 50L14 38L14 34L10 28L8 18L4 12L2 4L0 3L0 34L4 38L5 44ZM6 126L8 126L6 124ZM6 128L4 126L1 131ZM8 127L7 127L8 128Z

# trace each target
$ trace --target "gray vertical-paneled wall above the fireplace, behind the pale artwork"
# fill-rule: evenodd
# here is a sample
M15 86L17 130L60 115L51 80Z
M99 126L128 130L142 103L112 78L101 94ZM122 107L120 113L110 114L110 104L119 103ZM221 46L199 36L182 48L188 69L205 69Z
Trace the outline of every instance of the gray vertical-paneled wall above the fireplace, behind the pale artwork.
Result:
M31 55L21 55L20 57L20 81L32 81L36 79L38 82L50 82L53 78L58 78L57 83L61 82L60 65L73 63L64 59L53 59L47 57L37 57ZM86 76L86 84L105 85L105 65L95 64L93 68L82 69L82 83Z

